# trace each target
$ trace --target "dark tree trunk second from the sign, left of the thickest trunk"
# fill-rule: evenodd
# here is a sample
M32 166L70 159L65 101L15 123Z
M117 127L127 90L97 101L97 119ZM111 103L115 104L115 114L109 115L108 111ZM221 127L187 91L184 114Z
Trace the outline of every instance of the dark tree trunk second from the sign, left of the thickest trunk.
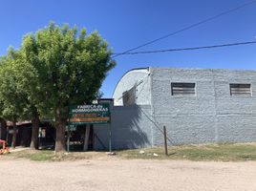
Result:
M32 117L32 141L31 141L31 148L38 149L38 133L39 133L39 117L38 114Z

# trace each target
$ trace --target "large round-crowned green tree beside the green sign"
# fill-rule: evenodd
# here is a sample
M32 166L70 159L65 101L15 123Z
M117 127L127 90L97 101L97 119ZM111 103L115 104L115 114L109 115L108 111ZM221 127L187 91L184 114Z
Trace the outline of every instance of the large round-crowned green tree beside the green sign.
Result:
M91 103L99 96L106 74L115 66L108 43L97 32L89 35L68 25L47 28L24 37L21 51L37 76L32 97L55 121L55 152L65 150L69 106Z

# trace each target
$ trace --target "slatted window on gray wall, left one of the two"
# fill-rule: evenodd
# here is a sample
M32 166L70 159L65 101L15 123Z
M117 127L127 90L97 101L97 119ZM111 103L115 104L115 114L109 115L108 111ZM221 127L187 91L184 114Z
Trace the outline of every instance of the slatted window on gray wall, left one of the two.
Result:
M195 83L172 83L172 96L194 96L196 95Z

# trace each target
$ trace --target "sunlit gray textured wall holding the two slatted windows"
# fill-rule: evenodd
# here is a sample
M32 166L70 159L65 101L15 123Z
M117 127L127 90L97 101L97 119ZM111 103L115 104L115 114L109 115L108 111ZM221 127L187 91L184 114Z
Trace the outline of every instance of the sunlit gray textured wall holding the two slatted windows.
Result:
M255 71L151 68L151 77L154 120L176 144L256 141ZM172 96L171 82L196 83L196 95ZM252 96L230 96L230 83L250 83Z

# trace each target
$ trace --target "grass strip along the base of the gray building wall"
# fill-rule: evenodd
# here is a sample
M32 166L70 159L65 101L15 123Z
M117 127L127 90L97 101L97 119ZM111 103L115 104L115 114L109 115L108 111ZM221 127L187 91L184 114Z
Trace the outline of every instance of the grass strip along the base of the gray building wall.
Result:
M155 155L154 155L155 154ZM205 145L184 145L168 148L168 156L163 147L118 152L124 159L187 159L214 161L256 160L256 143L224 143Z

